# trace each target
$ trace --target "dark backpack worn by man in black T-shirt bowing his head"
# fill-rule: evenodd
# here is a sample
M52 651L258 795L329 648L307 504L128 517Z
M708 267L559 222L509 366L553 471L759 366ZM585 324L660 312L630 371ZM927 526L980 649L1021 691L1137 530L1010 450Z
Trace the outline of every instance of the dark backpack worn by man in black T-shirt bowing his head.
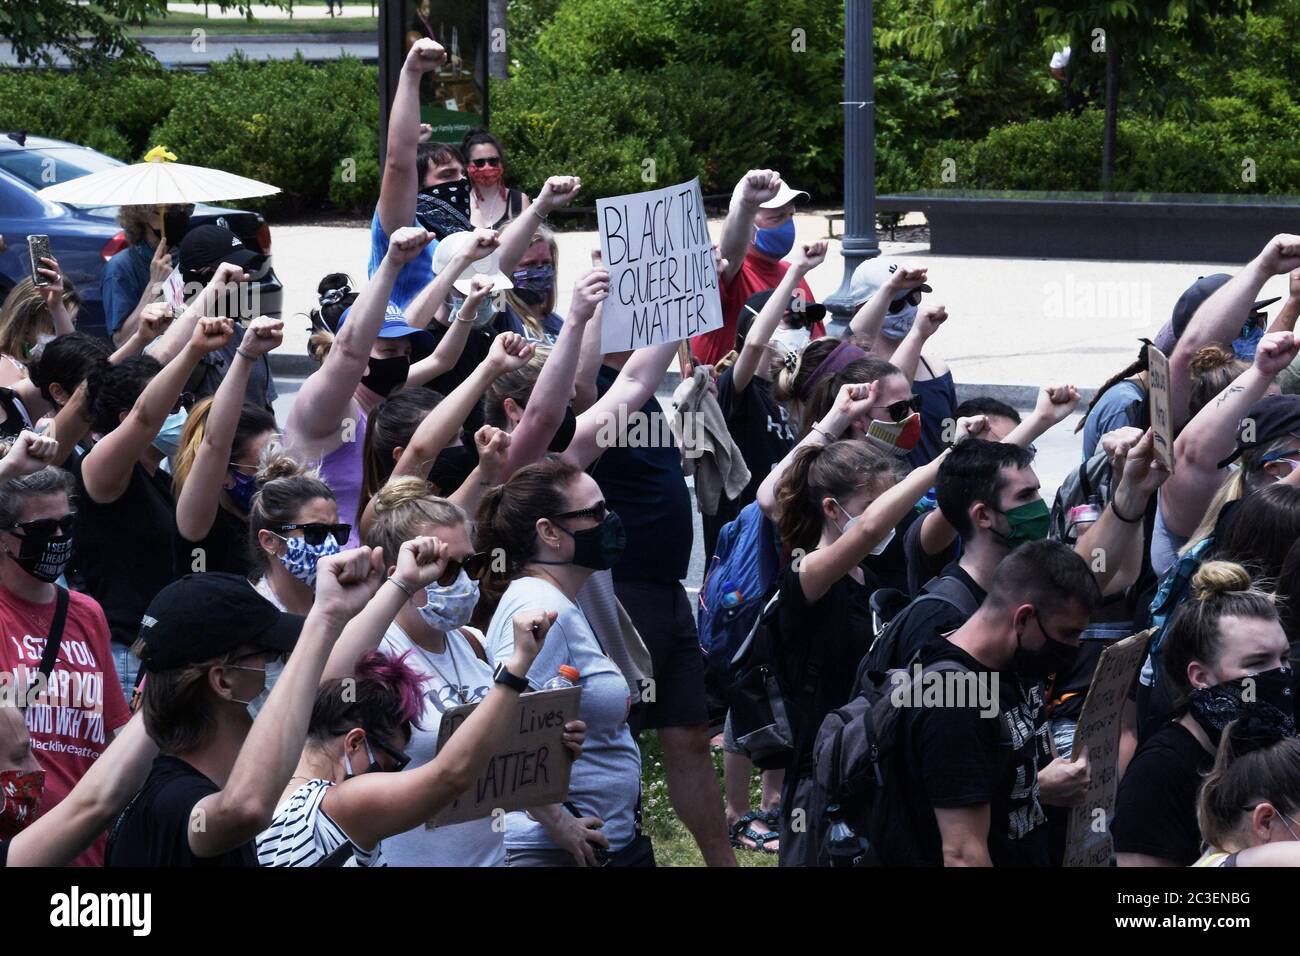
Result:
M920 674L958 671L959 661L936 661ZM857 695L822 721L812 744L814 792L809 832L818 858L831 866L880 865L880 838L885 832L889 770L902 744L901 721L916 672L898 667L872 680L866 661L858 669ZM1010 741L1004 717L1002 737Z

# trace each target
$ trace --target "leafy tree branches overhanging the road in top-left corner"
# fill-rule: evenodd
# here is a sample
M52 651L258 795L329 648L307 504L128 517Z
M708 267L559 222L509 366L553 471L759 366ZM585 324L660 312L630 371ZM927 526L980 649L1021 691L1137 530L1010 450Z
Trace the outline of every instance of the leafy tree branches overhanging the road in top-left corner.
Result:
M252 20L248 0L217 0L221 10L237 9ZM286 0L265 0L283 8ZM107 60L150 56L126 35L151 17L166 17L166 0L99 0L94 7L74 0L0 0L0 36L9 40L20 64L51 66L62 55L78 68Z

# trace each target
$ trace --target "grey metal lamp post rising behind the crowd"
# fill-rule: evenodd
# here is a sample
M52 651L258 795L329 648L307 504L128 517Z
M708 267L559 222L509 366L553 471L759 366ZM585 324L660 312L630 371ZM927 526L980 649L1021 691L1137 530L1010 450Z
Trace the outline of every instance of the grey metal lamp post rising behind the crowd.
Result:
M880 255L876 242L876 104L871 0L844 4L844 281L826 300L841 332L853 317L849 281Z

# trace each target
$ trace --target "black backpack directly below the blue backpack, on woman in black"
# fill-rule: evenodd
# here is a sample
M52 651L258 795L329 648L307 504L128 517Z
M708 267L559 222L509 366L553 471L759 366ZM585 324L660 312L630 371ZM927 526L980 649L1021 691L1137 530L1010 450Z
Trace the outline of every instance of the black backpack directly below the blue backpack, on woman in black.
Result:
M786 767L794 753L790 706L780 676L780 597L777 591L768 598L737 648L724 692L736 745L760 770ZM805 678L810 684L815 683L816 671L807 669Z

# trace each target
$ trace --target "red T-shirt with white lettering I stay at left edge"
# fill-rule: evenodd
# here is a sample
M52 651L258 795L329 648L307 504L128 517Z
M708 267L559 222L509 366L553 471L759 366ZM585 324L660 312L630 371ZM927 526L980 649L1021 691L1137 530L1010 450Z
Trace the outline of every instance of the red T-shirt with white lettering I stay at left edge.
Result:
M55 602L34 605L0 588L0 670L10 693L35 679ZM68 796L108 748L113 731L131 719L113 663L108 620L95 598L69 592L64 639L47 689L27 708L31 750L46 771L42 812ZM73 861L103 866L104 836Z

